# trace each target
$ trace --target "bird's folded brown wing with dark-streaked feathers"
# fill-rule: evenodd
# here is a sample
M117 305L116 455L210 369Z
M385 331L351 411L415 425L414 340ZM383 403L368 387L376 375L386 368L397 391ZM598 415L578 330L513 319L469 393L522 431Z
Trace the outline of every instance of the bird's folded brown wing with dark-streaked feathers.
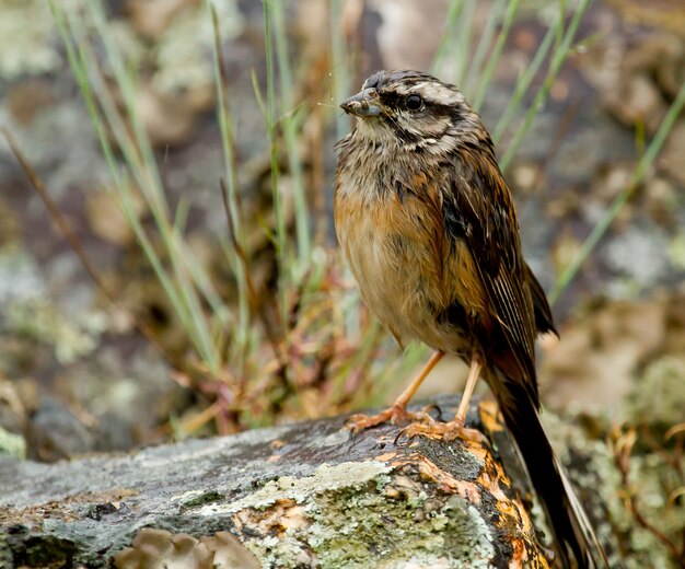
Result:
M454 160L458 167L445 169L453 174L442 214L449 239L466 244L489 297L496 324L486 357L537 404L534 305L511 191L494 154L466 148Z

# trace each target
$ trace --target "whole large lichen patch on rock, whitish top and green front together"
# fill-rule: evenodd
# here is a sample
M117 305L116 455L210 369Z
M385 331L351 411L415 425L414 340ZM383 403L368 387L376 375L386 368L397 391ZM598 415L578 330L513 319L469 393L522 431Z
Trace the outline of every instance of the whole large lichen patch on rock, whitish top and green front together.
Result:
M323 465L313 476L285 476L232 504L207 506L200 513L267 512L282 500L294 500L298 507L279 514L281 534L266 532L246 543L264 567L315 562L322 568L391 568L409 560L420 567L491 566L495 548L475 508L391 471L374 461ZM255 519L268 519L268 513Z

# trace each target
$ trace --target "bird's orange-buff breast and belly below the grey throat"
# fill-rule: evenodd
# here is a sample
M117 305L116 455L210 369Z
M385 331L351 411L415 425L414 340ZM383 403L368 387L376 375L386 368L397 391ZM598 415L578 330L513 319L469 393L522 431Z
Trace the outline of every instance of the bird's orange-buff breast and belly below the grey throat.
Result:
M462 351L462 335L438 317L455 302L456 248L433 198L338 186L336 232L364 302L402 346Z

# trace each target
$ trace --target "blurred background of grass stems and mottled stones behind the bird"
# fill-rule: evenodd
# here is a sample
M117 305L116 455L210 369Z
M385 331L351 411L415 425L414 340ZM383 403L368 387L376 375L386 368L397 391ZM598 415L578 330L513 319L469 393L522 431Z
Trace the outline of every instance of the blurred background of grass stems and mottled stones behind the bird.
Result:
M681 0L0 0L0 452L392 400L428 353L360 304L333 147L342 98L414 68L496 140L561 334L546 406L648 426L681 461ZM464 376L445 361L422 394Z

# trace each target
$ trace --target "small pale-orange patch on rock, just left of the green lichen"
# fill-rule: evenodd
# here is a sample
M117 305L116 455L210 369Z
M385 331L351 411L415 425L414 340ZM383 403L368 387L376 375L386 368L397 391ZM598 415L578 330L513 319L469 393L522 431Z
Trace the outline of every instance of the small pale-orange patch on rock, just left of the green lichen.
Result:
M247 529L251 534L282 537L287 530L305 529L311 522L295 500L285 498L265 510L245 508L234 514L233 523L239 534L244 535Z

